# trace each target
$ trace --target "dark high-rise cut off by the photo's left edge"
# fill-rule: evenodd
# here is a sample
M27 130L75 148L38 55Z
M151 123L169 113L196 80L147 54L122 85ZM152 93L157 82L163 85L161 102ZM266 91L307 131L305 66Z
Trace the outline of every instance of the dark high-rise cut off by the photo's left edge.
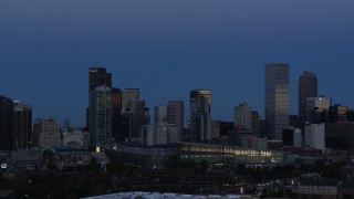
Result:
M14 150L13 101L0 95L0 150Z

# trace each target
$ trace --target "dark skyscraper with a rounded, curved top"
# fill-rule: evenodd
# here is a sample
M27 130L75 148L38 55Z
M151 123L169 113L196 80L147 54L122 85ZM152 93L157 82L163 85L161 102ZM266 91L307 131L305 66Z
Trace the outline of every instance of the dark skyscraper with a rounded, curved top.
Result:
M306 119L306 98L317 96L317 76L304 71L299 77L299 118Z

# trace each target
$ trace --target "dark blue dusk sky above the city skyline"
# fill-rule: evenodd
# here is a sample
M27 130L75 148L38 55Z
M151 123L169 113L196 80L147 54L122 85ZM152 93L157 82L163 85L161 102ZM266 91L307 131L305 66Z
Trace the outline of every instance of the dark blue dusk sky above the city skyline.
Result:
M61 0L0 1L0 94L34 117L84 124L87 69L115 86L139 87L149 107L211 90L212 117L248 102L264 112L264 64L288 62L291 113L298 78L354 108L354 1Z

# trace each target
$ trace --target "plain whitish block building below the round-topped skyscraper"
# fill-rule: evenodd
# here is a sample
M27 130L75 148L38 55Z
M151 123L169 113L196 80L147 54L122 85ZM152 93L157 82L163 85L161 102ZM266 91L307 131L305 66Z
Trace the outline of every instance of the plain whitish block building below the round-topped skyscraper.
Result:
M325 149L325 124L305 125L304 137L305 147Z

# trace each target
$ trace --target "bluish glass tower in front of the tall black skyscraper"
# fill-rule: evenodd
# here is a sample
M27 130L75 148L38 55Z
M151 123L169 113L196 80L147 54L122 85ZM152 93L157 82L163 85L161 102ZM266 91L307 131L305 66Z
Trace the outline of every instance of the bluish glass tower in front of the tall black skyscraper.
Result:
M90 92L90 143L93 146L112 143L112 88L98 86Z

